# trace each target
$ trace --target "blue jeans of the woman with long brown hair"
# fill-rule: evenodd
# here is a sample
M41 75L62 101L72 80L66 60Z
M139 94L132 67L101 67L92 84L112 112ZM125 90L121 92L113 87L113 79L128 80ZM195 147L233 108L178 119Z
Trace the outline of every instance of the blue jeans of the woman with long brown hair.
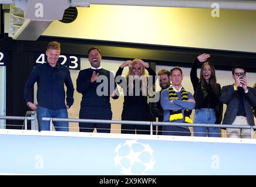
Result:
M194 123L215 124L214 109L196 109ZM194 136L221 137L221 129L218 127L193 127Z

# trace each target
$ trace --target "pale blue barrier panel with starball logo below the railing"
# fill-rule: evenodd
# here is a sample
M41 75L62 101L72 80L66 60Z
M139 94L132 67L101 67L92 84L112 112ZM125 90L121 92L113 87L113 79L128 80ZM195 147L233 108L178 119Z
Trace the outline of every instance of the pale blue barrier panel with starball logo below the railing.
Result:
M256 175L255 139L0 130L0 173Z

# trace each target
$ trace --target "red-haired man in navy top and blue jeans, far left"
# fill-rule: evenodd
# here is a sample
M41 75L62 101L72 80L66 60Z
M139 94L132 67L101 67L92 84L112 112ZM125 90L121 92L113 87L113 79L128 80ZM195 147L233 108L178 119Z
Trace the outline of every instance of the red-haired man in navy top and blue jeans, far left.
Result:
M36 110L39 131L50 130L50 122L43 121L42 117L68 118L67 109L74 102L74 87L70 72L68 67L57 63L59 55L60 43L50 42L46 50L47 62L36 65L25 84L25 101L29 108ZM31 99L31 89L35 82L38 84L38 104L33 103ZM67 87L66 103L64 84ZM53 124L55 130L69 131L68 122L53 122Z

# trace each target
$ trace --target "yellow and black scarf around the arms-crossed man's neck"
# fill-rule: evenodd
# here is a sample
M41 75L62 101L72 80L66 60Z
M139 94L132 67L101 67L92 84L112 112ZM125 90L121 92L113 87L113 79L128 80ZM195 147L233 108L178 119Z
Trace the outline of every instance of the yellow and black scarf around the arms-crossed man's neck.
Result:
M177 93L173 90L173 87L170 86L169 88L169 101L172 99L178 99ZM182 87L181 88L181 99L182 101L187 101L188 94L187 91ZM184 109L184 116L185 116L185 122L186 123L193 123L193 121L190 119L189 111L188 109ZM170 110L170 121L174 121L177 119L183 119L182 111L180 110Z

